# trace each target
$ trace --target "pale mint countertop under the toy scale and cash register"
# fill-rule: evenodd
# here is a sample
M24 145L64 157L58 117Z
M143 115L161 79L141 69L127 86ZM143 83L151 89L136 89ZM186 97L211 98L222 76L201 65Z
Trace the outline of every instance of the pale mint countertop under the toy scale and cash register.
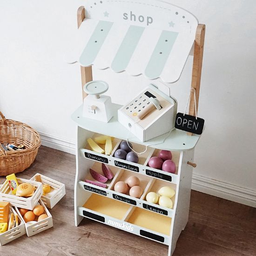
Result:
M72 114L72 120L74 120L79 127L94 133L105 134L121 140L126 140L129 136L129 141L141 144L142 146L148 145L154 148L172 151L190 150L195 147L200 138L200 135L188 136L186 132L175 129L170 132L169 135L164 134L149 141L141 142L117 121L117 110L121 108L121 105L112 105L115 115L108 123L83 117L82 105Z

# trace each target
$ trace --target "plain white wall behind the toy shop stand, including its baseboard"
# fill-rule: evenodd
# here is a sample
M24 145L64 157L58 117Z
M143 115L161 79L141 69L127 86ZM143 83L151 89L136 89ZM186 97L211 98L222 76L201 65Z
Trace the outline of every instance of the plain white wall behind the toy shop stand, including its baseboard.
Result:
M195 150L193 188L256 206L256 2L171 2L194 13L207 28L199 106L206 129ZM80 68L65 64L63 53L83 3L0 0L0 110L40 131L44 144L66 151L75 141L70 115L82 101ZM181 111L191 63L172 88ZM95 70L94 79L110 84L108 93L117 103L123 92L131 98L147 84L142 76L110 70Z

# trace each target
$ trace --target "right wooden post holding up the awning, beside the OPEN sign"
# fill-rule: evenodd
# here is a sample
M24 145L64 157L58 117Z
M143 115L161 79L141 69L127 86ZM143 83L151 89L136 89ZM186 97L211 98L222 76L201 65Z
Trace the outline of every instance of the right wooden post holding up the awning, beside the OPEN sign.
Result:
M205 25L199 24L196 29L195 34L195 46L194 46L194 61L192 70L192 82L191 88L195 89L195 99L196 99L196 111L198 110L201 74L202 74L202 56L204 47L204 35L205 35ZM195 116L195 99L194 92L190 92L190 102L189 102L189 115ZM192 133L187 133L188 135L193 135Z

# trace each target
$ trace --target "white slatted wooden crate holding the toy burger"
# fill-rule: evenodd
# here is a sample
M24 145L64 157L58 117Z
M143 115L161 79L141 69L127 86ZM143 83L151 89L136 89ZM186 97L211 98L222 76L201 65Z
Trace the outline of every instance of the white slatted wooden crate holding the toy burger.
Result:
M0 189L0 201L10 202L12 206L33 210L43 194L42 183L19 178L17 178L17 181L19 184L27 182L34 185L36 188L34 195L27 198L13 195L11 189L9 188L8 181L6 180Z

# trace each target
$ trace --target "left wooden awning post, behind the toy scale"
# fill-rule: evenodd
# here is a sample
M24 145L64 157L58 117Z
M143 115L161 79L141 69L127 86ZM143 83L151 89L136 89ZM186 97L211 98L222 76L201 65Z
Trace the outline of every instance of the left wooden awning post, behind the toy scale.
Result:
M77 10L77 27L79 28L85 19L85 9L83 6L79 7ZM90 67L82 67L81 66L81 81L82 81L82 94L83 99L87 96L87 94L83 90L83 86L93 80L93 72L92 66Z

